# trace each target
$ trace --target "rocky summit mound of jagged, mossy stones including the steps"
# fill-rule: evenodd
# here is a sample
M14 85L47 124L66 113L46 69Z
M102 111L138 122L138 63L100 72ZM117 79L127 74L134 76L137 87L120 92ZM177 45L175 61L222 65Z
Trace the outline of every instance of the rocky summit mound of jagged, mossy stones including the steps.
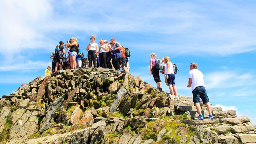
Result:
M83 67L37 77L0 98L0 142L8 144L256 143L256 126L212 107L204 120L191 97L173 99L128 71Z

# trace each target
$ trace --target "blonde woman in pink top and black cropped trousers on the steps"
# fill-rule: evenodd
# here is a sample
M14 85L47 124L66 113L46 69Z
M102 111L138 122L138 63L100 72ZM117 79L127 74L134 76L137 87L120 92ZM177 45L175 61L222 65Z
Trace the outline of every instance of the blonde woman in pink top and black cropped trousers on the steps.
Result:
M157 89L162 90L162 81L159 76L159 69L156 68L156 60L155 60L156 54L151 53L150 54L150 75L153 75L153 78L156 82Z

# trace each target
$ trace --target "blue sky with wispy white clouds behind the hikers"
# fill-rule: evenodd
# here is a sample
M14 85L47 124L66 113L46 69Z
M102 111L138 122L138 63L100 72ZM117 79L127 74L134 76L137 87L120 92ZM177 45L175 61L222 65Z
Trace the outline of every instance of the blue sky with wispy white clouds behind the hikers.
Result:
M187 88L191 62L204 74L214 106L235 109L256 124L255 1L1 1L0 96L43 76L60 40L77 37L80 48L114 37L131 51L131 73L156 86L150 53L169 56ZM164 80L163 75L161 79ZM163 85L168 91L168 87Z

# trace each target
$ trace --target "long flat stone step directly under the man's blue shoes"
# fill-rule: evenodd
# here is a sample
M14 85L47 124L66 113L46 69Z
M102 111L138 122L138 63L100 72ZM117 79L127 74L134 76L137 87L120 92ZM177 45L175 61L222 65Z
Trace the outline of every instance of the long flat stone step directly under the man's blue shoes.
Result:
M237 117L237 118L223 118L223 119L204 119L204 120L193 120L185 119L182 121L184 124L192 125L212 125L212 124L222 124L222 125L238 125L248 122L251 125L250 119L248 117Z

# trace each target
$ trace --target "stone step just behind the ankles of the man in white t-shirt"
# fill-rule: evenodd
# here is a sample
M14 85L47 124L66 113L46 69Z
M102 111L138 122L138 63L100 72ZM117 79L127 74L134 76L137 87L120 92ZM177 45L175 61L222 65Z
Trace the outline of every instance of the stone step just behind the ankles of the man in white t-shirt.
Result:
M208 118L209 112L207 110L202 110L202 115L204 118ZM184 114L188 116L188 118L195 119L199 116L197 111L187 111ZM220 110L214 110L212 111L212 115L214 118L235 118L236 111L235 110L228 110L228 111L220 111Z

